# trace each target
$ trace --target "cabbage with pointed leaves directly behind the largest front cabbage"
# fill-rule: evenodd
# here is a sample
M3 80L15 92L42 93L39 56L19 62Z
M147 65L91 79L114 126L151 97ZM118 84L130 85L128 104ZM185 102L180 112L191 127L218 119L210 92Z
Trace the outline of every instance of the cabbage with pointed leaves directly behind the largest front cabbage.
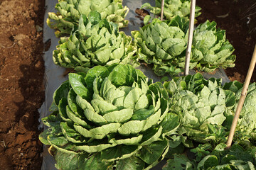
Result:
M89 18L81 16L78 30L69 38L60 38L53 51L53 62L65 68L91 68L95 65L113 63L138 66L134 56L137 47L132 38L119 32L114 23L101 19L100 13L92 11Z

